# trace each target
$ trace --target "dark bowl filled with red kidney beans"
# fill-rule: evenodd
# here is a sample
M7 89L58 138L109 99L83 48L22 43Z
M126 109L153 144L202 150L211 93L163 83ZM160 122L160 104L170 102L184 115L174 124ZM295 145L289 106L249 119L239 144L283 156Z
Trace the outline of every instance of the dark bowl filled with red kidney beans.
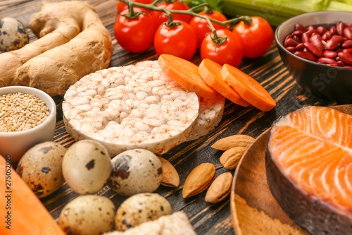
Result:
M307 95L352 104L352 12L315 11L275 30L284 65Z

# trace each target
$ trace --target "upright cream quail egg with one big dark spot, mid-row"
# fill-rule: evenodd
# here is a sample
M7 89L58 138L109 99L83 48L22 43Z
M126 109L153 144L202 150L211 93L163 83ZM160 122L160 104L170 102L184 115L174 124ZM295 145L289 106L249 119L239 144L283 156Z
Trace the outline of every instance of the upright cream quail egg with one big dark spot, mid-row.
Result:
M74 143L63 156L63 178L76 193L97 193L110 174L108 150L94 140Z

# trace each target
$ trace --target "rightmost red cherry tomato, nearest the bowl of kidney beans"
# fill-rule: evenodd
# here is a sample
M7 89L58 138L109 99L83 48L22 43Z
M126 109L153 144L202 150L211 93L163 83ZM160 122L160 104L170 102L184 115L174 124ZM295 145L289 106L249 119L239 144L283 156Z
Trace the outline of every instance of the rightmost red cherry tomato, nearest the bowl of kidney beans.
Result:
M256 58L268 52L274 40L274 31L267 20L258 16L251 18L251 25L240 22L232 32L241 37L244 56Z

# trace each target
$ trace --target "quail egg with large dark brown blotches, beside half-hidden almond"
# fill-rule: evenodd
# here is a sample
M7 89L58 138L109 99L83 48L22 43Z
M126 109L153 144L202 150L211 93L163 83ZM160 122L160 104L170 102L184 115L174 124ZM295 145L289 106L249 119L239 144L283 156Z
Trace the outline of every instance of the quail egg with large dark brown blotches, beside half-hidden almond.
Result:
M107 183L121 195L151 193L163 179L161 160L149 150L121 152L111 159L111 164L113 171Z

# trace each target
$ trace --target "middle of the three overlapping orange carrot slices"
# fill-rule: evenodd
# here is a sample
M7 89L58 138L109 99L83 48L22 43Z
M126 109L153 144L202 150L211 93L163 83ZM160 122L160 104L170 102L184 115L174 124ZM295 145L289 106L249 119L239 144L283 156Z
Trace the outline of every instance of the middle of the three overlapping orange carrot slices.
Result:
M232 88L230 88L230 85L227 85L225 80L222 79L221 68L222 66L215 61L203 59L199 65L199 74L206 84L210 85L210 87L214 88L214 90L219 92L225 98L231 100L235 104L249 107L249 102L243 100L234 90L232 90Z

